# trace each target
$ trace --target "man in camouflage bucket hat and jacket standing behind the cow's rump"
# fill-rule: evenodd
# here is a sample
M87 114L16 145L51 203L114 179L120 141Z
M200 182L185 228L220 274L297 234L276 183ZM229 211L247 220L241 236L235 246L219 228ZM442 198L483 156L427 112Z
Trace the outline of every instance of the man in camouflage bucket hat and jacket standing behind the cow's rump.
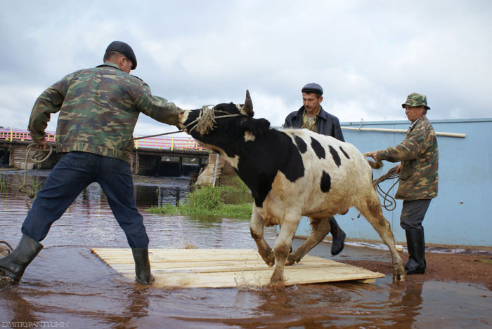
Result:
M370 152L373 159L401 161L396 199L403 199L400 224L405 229L408 262L406 274L425 273L425 239L422 221L431 199L437 196L439 150L434 128L425 116L430 107L425 95L411 93L401 105L412 123L400 145Z

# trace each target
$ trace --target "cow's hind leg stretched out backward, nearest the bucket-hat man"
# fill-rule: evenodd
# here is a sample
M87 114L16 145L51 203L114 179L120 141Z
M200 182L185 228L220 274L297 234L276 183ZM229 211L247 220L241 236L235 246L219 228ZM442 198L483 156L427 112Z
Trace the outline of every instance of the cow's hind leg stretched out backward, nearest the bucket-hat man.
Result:
M391 258L393 261L393 281L405 280L405 269L403 267L403 261L396 250L394 245L394 236L391 232L389 222L382 215L381 203L377 197L376 192L371 195L371 198L365 202L365 204L358 206L358 210L362 213L368 222L373 225L374 229L380 235L382 241L388 246L391 252Z

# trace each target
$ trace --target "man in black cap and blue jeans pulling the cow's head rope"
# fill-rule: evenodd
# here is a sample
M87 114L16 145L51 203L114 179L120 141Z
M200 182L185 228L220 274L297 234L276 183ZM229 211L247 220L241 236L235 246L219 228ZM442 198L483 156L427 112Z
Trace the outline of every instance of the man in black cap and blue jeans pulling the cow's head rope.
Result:
M148 236L136 208L129 155L133 133L143 113L177 126L181 109L150 93L136 68L133 49L122 41L106 48L103 64L81 69L44 90L34 104L28 129L32 140L46 148L45 128L51 114L60 112L56 151L63 154L22 224L17 248L0 259L0 274L19 281L37 256L51 224L65 213L92 182L101 185L112 213L127 236L135 260L136 281L150 284Z

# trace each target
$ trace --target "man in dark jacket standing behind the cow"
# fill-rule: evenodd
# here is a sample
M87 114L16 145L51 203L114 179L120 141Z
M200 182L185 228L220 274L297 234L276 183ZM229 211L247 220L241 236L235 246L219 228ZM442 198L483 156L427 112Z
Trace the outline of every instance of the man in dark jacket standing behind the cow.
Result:
M307 83L302 87L302 107L287 115L283 128L306 128L315 133L328 135L344 142L338 118L321 107L323 88L318 83ZM338 255L344 248L345 232L338 226L335 217L330 217L332 234L332 255Z

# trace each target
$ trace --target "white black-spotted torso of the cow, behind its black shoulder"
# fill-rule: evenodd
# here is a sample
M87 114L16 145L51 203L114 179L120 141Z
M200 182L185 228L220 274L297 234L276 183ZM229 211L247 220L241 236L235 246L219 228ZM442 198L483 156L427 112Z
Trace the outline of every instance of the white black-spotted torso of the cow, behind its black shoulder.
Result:
M354 145L306 129L283 133L297 145L304 175L295 182L278 175L267 203L282 201L283 206L290 204L302 215L323 217L344 213L367 193L372 184L371 168Z

